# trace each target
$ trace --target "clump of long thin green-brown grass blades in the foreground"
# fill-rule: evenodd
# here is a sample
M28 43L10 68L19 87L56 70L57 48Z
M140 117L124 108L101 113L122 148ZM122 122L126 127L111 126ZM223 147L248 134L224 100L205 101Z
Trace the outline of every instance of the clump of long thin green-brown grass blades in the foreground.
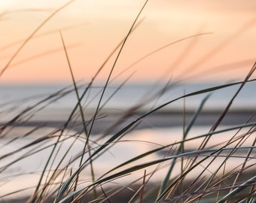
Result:
M72 1L71 1L72 2ZM70 3L70 2L69 2ZM69 3L67 5L69 5ZM148 1L145 2L145 5ZM115 68L117 60L122 53L127 39L132 34L136 26L139 25L139 16L145 5L139 11L136 20L130 27L123 41L110 54L108 59L114 56L114 64L108 74L108 78L102 89L99 90L99 100L93 113L87 113L87 105L92 102L88 100L93 83L102 68L105 67L108 59L102 64L96 72L93 79L87 85L78 85L75 75L72 72L72 64L69 61L69 53L66 50L65 38L60 32L63 50L66 54L69 70L72 75L72 86L60 89L34 105L23 109L11 120L3 123L0 129L1 138L4 141L19 126L26 125L33 120L35 114L43 111L51 103L57 102L66 95L75 92L77 103L66 117L64 123L58 123L58 126L50 128L45 132L45 128L50 123L40 123L33 129L22 135L16 135L10 138L6 147L23 138L30 138L29 143L19 146L17 149L8 151L0 156L2 161L0 172L2 187L11 181L6 171L15 169L15 165L20 162L26 162L29 157L44 156L43 168L40 171L31 171L30 174L14 173L15 177L26 177L26 175L35 175L36 183L32 187L24 184L23 188L5 193L0 196L2 200L16 198L23 192L29 191L27 202L254 202L255 201L255 121L252 112L247 122L239 123L235 126L227 126L219 129L222 121L230 111L230 107L236 96L246 85L253 83L255 79L250 79L254 73L256 64L248 72L245 80L236 83L226 83L219 86L212 86L207 89L200 89L173 98L161 105L152 105L151 108L145 108L148 102L157 102L166 92L169 92L178 84L177 81L169 81L163 89L154 92L143 102L132 105L123 114L114 115L114 122L110 123L105 129L101 130L100 136L93 135L93 129L99 128L98 121L105 117L111 117L111 112L105 112L106 103L114 98L114 95L121 91L121 87L126 84L126 80L117 86L117 89L103 102L105 91L111 83L111 74ZM65 5L66 6L66 5ZM63 6L62 8L64 8ZM43 26L59 12L59 8L44 23ZM41 29L35 29L37 32ZM35 32L29 36L22 44L17 53L25 46L26 42L35 35ZM193 37L200 35L193 35ZM186 38L184 38L186 39ZM182 40L184 40L182 39ZM172 45L171 44L168 44ZM164 48L164 47L162 47ZM161 48L160 48L161 49ZM157 50L156 50L157 51ZM15 58L17 53L11 58L8 65ZM155 53L155 52L153 52ZM151 56L149 53L147 56ZM145 59L143 57L142 59ZM8 65L2 69L2 74L7 70ZM127 77L129 80L130 77ZM218 115L215 123L209 132L203 135L189 137L190 131L203 113L203 108L210 98L210 93L218 89L226 89L229 86L239 86L233 98ZM183 123L183 135L181 139L175 141L157 141L132 140L129 138L131 133L135 132L136 127L143 121L159 111L163 111L166 106L172 105L179 100L194 97L197 95L206 95L201 104L198 105L189 123ZM97 98L95 98L97 99ZM145 111L145 109L148 109ZM10 110L8 110L10 111ZM172 112L170 113L172 114ZM171 115L169 115L171 117ZM184 120L186 118L184 109ZM172 122L172 121L170 121ZM78 128L79 126L79 128ZM44 130L40 135L40 130ZM38 136L35 137L35 135ZM40 135L40 136L39 136ZM227 136L229 135L229 136ZM227 138L222 138L227 136ZM213 138L219 138L218 144L211 144ZM197 142L199 145L194 149L187 149L187 145ZM98 173L100 159L105 154L111 154L114 147L122 144L146 144L150 148L143 150L137 155L127 154L126 161L111 165L110 168L103 166L101 174ZM241 153L242 152L242 153ZM246 153L245 153L246 152ZM114 154L115 156L115 154ZM233 163L233 160L239 159L239 162ZM232 162L232 168L230 168ZM32 163L29 163L32 164ZM105 169L105 170L104 170ZM103 172L102 172L103 171ZM157 177L157 180L154 179ZM7 200L6 200L7 201Z

